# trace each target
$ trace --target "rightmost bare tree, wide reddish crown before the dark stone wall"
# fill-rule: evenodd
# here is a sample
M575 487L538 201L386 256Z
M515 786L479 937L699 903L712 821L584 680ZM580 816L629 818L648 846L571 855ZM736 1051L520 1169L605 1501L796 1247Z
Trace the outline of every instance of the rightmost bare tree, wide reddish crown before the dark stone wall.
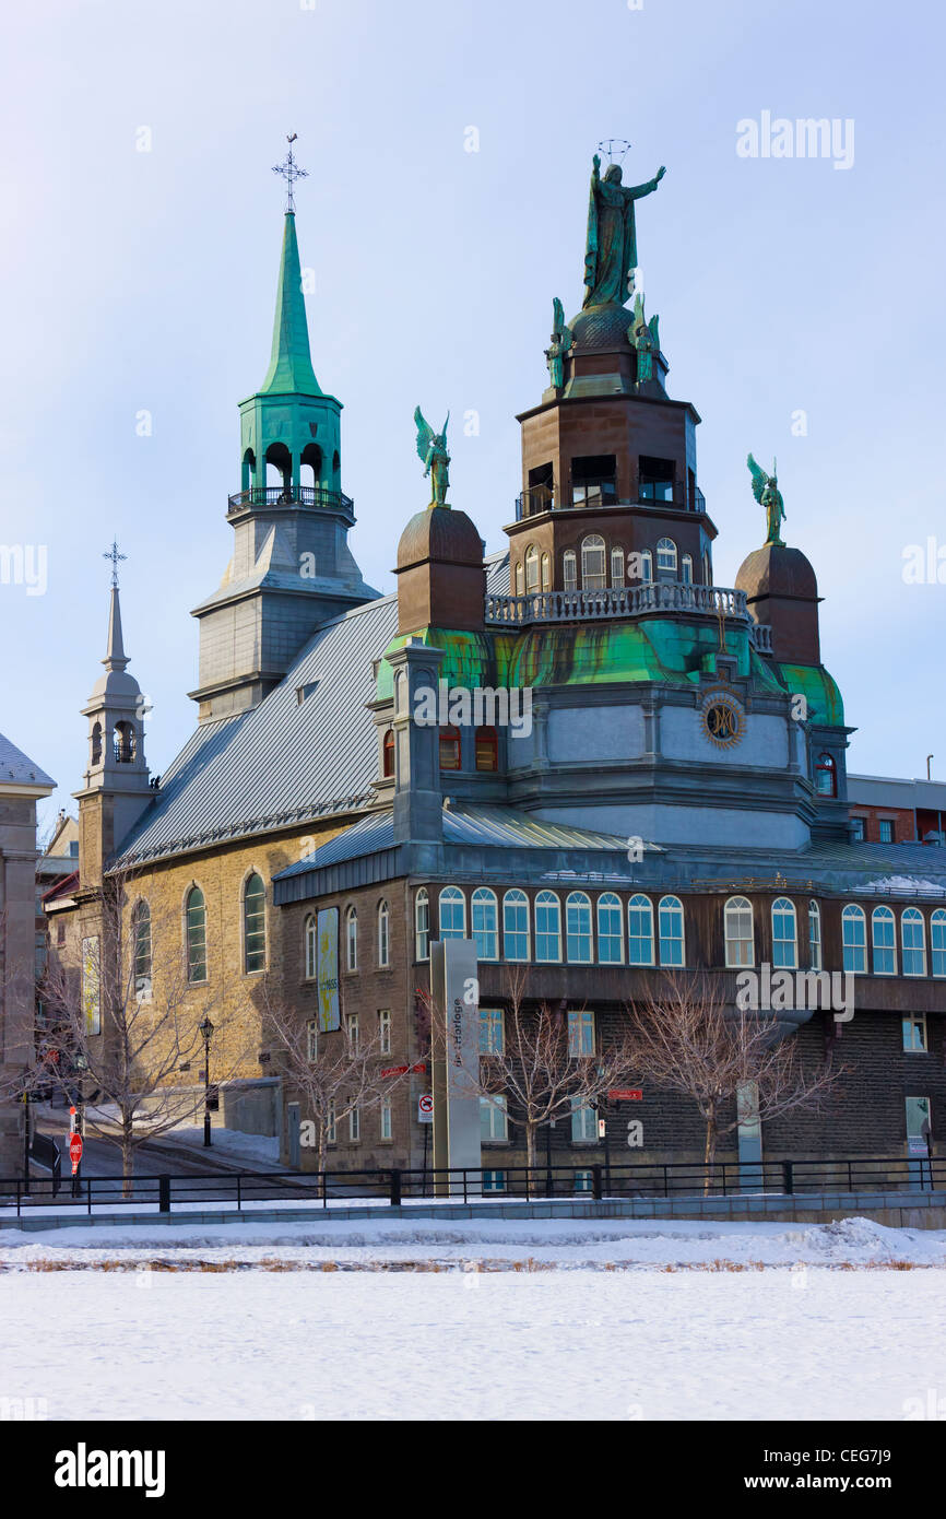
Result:
M844 1074L831 1063L805 1069L797 1039L784 1037L776 1018L727 1009L705 975L667 974L629 1016L638 1078L689 1097L706 1124L706 1191L721 1138L744 1123L821 1109Z

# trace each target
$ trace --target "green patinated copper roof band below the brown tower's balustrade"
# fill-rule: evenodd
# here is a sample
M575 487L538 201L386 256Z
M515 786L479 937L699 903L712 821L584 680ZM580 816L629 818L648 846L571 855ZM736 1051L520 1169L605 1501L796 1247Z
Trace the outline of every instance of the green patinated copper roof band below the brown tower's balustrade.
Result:
M410 636L442 649L440 679L468 690L635 681L698 685L700 676L717 673L720 652L715 623L700 626L670 618L545 626L518 633L460 633L425 627ZM405 641L407 636L392 639L386 655ZM843 726L841 694L823 665L779 665L761 659L749 641L747 627L726 630L726 652L735 656L739 679L750 679L758 691L802 694L808 702L809 722ZM377 696L380 700L393 696L386 658L378 670Z

